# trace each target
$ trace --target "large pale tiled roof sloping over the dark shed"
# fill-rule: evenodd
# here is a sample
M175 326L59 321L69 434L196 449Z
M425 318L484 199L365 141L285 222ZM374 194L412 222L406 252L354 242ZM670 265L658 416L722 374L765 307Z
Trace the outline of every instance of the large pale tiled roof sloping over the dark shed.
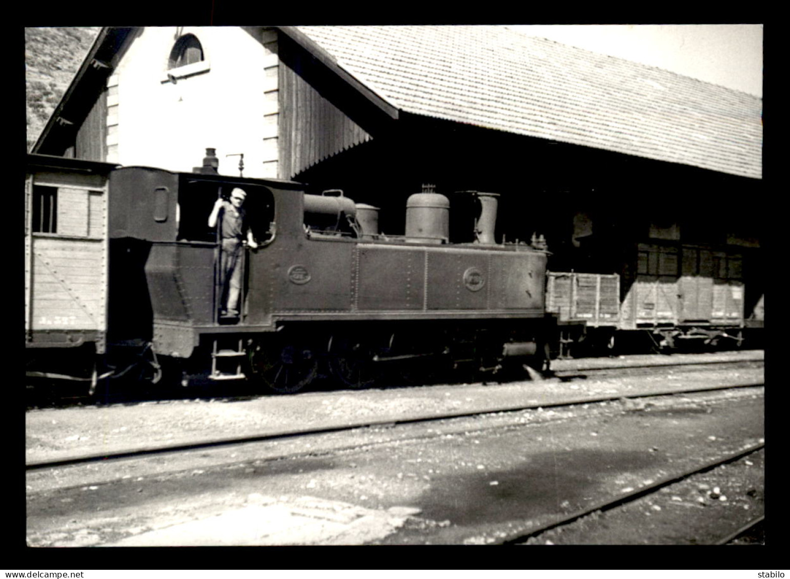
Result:
M300 26L400 110L762 177L762 99L503 26Z

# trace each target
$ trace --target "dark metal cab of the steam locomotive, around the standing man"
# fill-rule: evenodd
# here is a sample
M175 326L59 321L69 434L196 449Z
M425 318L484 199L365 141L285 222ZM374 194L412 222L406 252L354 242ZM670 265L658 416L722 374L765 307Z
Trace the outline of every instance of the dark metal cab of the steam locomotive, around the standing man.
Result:
M271 243L275 194L259 181L149 167L123 167L111 174L109 316L116 339L149 340L175 335L174 325L220 323L221 240L219 224L209 227L208 219L216 200L227 199L237 187L246 192L244 210L254 239L259 246ZM246 253L239 263L242 304L248 289ZM171 340L164 342L172 346ZM189 356L194 344L175 346L171 352Z

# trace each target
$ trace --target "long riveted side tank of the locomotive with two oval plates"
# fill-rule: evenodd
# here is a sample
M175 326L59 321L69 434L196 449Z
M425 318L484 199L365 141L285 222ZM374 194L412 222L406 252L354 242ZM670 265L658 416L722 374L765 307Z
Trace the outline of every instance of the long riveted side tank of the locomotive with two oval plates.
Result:
M277 238L250 256L246 323L285 319L542 317L546 252L435 237L306 235L299 196L276 200Z

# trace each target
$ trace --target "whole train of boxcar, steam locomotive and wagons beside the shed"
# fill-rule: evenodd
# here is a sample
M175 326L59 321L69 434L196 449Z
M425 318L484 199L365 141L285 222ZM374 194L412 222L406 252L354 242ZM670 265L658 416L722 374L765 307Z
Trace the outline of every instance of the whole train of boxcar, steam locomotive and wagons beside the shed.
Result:
M319 375L363 387L408 360L540 372L551 357L640 341L663 351L762 338L754 249L634 237L587 251L581 240L592 261L563 273L547 271L542 237L496 243L495 193L426 188L402 209L388 202L387 227L405 212L392 234L377 207L340 190L210 165L28 155L27 173L28 376L92 390L104 379L250 379L295 392ZM244 250L243 307L228 317L220 232L207 221L235 188L258 247Z

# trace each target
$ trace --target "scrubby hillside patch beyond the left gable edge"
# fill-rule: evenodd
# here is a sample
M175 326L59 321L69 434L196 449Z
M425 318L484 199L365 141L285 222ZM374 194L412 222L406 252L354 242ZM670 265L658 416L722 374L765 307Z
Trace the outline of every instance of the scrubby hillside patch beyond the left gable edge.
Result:
M28 151L79 69L100 28L25 28Z

